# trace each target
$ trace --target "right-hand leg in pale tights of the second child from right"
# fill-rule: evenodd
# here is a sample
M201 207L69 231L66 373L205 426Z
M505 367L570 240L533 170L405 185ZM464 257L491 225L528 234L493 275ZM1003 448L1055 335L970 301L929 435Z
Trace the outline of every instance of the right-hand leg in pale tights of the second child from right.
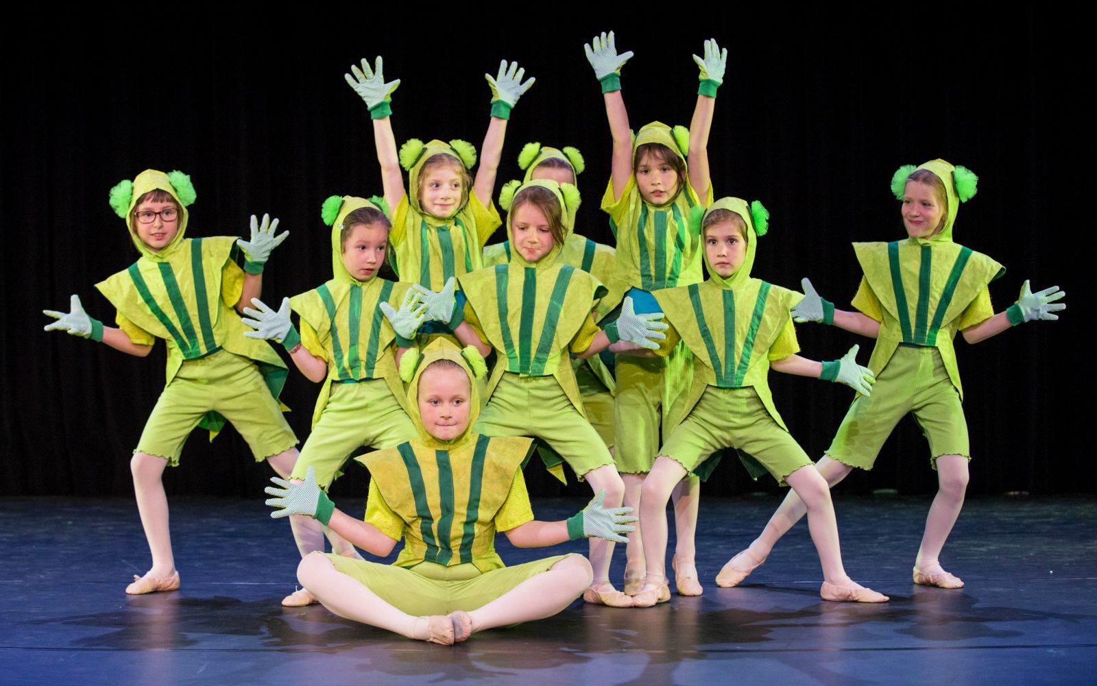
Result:
M830 489L822 475L813 467L801 467L784 478L800 495L807 507L807 528L812 542L823 565L821 594L828 601L857 601L860 603L882 603L887 596L875 593L855 583L841 564L841 548L838 544L838 523L830 502Z

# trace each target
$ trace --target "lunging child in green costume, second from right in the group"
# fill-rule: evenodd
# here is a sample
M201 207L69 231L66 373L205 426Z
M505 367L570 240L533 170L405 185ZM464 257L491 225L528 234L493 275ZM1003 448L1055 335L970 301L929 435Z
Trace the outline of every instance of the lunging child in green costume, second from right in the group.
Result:
M680 340L693 352L693 385L675 408L678 418L659 449L641 496L641 527L647 569L633 601L646 607L670 599L664 575L667 547L666 506L671 491L689 473L708 476L719 450L738 449L754 478L769 472L807 503L812 540L826 581L828 601L880 603L887 597L853 583L841 564L838 527L826 481L781 421L767 376L778 371L839 381L869 393L872 374L853 361L857 346L840 361L817 363L795 355L799 345L789 309L799 294L750 277L758 238L769 213L725 197L708 211L690 213L690 231L704 240L709 279L655 291L671 328L659 354Z

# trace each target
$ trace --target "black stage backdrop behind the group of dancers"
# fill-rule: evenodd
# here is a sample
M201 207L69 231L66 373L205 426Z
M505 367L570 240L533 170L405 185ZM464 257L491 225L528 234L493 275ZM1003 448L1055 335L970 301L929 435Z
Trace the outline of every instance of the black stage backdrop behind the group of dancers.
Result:
M162 345L147 359L127 357L43 333L41 315L67 308L78 293L92 316L113 321L92 284L125 268L135 252L106 204L112 185L150 167L191 174L191 237L244 235L252 213L281 217L293 235L274 253L263 290L278 302L330 276L323 199L381 191L367 113L343 82L349 66L381 54L385 76L403 80L393 102L398 141L464 138L478 149L489 100L482 75L507 58L538 82L514 110L496 191L519 175L527 141L576 146L587 161L578 229L610 242L598 209L609 130L583 54L584 42L609 28L622 52L636 53L622 79L634 128L653 119L689 124L690 55L710 35L730 48L709 147L712 176L717 196L759 198L772 213L755 267L768 281L798 287L810 275L848 307L859 277L850 241L904 236L889 192L894 170L943 157L980 174L955 237L1008 267L992 286L996 308L1031 278L1033 287L1062 286L1071 309L1060 322L958 344L975 457L970 492L1093 492L1090 373L1066 364L1088 343L1083 268L1094 244L1081 162L1092 156L1092 118L1083 119L1075 95L1092 81L1073 36L1029 19L1008 31L946 25L928 5L894 18L793 20L789 10L782 23L753 11L692 22L667 13L665 27L657 18L627 24L540 11L544 27L525 21L499 31L498 18L462 25L432 8L409 8L406 14L440 26L425 30L426 38L406 19L362 10L178 19L150 9L139 20L39 11L9 23L0 48L0 494L132 491L127 458L162 386ZM821 325L799 333L816 358L860 342L863 362L871 348ZM793 434L821 455L850 392L779 374L771 384ZM283 395L302 437L317 388L293 371ZM249 456L231 430L213 445L195 433L184 468L166 477L169 492L258 496L269 470ZM931 492L926 457L907 419L878 468L842 488ZM562 489L538 468L528 478L535 494L587 492ZM335 492L364 493L364 470L353 470ZM768 479L751 483L728 462L704 491L776 488Z

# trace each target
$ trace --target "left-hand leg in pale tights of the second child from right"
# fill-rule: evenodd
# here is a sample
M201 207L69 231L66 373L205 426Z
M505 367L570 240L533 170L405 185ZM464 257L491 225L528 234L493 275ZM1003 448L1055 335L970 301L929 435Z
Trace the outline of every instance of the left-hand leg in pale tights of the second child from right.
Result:
M644 479L640 498L640 526L644 536L644 586L633 596L638 607L649 607L670 599L666 590L667 501L686 476L686 468L665 455L655 458Z

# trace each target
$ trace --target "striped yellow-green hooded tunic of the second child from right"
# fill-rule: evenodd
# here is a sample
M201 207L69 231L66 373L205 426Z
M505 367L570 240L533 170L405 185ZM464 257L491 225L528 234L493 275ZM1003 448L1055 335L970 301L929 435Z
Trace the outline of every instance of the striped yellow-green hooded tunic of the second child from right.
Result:
M750 276L758 236L746 202L722 198L709 211L716 209L730 209L747 225L743 265L724 278L705 256L708 281L653 294L671 327L693 353L693 384L675 403L670 426L672 430L681 424L710 387L751 388L768 414L788 432L769 390L768 353L789 323L789 310L803 296ZM750 455L740 450L739 458L751 477L757 479L766 473L767 469ZM697 473L706 478L716 462L719 457L710 458Z

